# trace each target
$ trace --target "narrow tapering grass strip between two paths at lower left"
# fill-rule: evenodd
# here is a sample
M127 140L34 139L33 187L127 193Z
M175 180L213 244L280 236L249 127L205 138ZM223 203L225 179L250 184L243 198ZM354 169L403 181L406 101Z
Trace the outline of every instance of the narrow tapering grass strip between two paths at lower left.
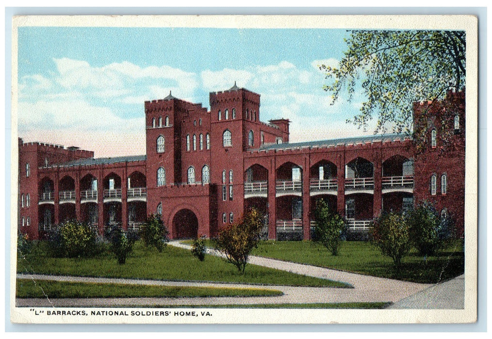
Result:
M278 296L274 289L149 286L139 284L32 281L17 279L17 298L255 297Z

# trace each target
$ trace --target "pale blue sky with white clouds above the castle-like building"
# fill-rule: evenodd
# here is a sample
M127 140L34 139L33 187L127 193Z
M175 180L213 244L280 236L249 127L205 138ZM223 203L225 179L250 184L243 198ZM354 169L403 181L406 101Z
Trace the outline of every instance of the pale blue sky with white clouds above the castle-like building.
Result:
M144 101L209 108L234 85L261 94L263 121L292 121L291 142L371 133L347 125L362 98L335 105L318 64L336 65L345 29L20 27L19 136L96 156L145 154ZM119 142L115 143L114 140Z

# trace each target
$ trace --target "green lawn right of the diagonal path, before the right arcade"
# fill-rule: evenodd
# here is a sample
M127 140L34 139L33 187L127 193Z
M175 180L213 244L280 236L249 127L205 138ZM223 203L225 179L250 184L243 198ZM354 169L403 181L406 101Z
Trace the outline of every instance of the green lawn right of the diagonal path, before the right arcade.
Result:
M334 256L322 245L311 241L269 240L261 242L251 255L422 283L442 282L464 272L460 241L448 246L441 255L428 257L427 261L413 251L403 258L399 270L394 268L389 257L363 241L340 242L339 254Z

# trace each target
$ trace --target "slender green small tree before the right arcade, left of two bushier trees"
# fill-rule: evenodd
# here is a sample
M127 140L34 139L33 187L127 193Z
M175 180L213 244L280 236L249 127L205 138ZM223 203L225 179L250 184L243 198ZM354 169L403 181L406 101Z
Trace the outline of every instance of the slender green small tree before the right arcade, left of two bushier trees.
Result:
M316 202L314 210L314 237L313 240L321 243L333 255L338 254L338 244L345 229L345 222L336 213L333 213L323 200Z

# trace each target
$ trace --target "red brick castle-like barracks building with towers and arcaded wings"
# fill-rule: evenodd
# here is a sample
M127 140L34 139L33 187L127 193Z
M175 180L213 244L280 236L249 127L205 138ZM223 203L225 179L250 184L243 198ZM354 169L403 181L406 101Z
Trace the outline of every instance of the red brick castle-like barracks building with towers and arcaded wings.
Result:
M453 96L461 110L445 127L464 145L464 92ZM261 122L260 95L236 85L210 93L210 112L170 93L145 102L145 116L141 156L94 158L19 139L20 230L36 239L70 219L100 233L137 229L157 213L172 238L212 237L254 206L267 215L270 239L309 239L318 199L352 231L422 200L463 229L464 146L439 155L439 114L428 119L425 157L397 134L289 143L289 120Z

